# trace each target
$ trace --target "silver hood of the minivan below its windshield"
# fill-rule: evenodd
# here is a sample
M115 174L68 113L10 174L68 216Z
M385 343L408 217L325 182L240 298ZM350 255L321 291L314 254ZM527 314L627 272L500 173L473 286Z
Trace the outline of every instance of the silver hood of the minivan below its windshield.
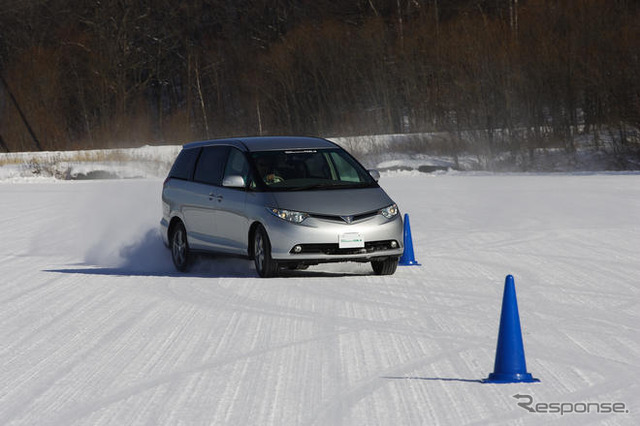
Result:
M310 190L272 193L277 207L321 215L349 216L393 204L382 188Z

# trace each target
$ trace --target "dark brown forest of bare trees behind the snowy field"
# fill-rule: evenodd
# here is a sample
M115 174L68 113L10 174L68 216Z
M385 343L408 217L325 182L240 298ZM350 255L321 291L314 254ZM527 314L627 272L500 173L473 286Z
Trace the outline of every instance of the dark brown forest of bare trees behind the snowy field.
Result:
M0 0L0 77L0 152L424 132L632 149L640 1Z

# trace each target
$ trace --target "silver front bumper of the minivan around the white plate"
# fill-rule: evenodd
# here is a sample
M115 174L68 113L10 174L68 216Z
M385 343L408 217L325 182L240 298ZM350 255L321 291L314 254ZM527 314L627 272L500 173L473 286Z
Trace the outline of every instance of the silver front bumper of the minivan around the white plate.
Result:
M352 223L314 216L308 217L301 224L290 223L275 216L267 218L265 222L271 242L271 256L278 261L366 262L399 257L404 250L400 214L391 220L378 214ZM347 233L359 233L364 239L364 247L340 248L340 235ZM296 246L301 250L296 252Z

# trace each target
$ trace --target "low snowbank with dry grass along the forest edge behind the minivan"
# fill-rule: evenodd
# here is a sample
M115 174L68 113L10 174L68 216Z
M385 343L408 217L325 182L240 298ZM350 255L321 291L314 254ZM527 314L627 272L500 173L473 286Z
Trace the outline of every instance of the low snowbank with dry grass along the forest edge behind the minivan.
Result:
M534 150L527 155L503 153L488 160L471 154L425 154L429 149L429 143L425 142L428 138L421 135L374 135L331 140L351 152L367 168L381 172L576 172L625 170L630 167L640 170L640 161L620 160L587 145L572 154L560 149L545 149ZM0 181L163 178L180 149L177 145L147 145L113 150L0 153Z

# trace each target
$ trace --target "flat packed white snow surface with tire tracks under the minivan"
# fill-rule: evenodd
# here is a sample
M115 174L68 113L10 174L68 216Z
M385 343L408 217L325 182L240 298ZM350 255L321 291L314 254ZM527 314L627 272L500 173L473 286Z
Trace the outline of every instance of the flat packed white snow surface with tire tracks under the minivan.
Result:
M640 423L640 175L383 174L421 266L274 279L174 272L161 180L21 182L0 183L2 425ZM540 383L481 383L507 274Z

